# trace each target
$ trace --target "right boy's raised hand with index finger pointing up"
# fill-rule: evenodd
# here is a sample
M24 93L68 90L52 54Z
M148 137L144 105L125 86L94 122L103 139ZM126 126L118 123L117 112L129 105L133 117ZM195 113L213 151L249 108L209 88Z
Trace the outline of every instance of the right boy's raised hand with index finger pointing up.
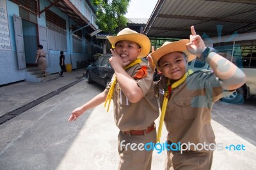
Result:
M200 35L196 35L194 26L191 26L191 35L189 36L190 42L187 43L187 49L192 54L195 54L197 57L200 57L205 50L204 40Z

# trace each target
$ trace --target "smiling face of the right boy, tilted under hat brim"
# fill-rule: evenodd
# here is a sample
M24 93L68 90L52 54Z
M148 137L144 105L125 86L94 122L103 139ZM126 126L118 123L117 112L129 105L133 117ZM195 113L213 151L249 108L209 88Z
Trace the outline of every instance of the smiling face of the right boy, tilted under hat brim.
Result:
M187 62L182 52L171 52L164 55L158 61L158 69L163 75L171 80L177 81L187 71Z

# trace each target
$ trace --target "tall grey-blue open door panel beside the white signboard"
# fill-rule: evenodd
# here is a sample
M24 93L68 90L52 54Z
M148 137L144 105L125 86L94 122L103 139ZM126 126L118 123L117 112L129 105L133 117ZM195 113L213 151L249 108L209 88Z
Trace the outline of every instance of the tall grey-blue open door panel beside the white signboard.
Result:
M26 68L26 58L25 58L21 18L18 17L17 15L13 15L13 24L14 24L14 33L15 33L18 67L21 70L21 69Z

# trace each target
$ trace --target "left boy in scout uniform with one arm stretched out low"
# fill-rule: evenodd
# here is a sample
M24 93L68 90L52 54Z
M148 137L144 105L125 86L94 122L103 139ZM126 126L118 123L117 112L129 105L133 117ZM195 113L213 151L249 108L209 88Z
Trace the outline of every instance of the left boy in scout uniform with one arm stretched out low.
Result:
M69 121L76 120L83 112L104 101L109 107L112 98L116 126L120 129L118 169L150 169L152 150L146 151L141 146L156 143L154 120L159 116L154 72L141 61L150 52L150 40L129 28L120 31L117 36L108 36L108 40L115 48L111 49L113 57L109 59L115 70L112 81L90 102L74 109ZM136 146L135 150L131 144Z

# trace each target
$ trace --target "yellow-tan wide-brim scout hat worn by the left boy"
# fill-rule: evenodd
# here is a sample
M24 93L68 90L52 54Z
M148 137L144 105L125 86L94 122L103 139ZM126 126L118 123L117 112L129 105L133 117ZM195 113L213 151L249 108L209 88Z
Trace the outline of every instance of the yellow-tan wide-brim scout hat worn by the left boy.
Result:
M143 34L137 33L136 31L129 29L128 27L125 27L125 29L122 29L116 36L107 36L107 38L113 48L116 47L117 42L120 42L123 40L138 43L138 45L140 45L141 47L141 52L137 58L144 58L150 52L149 38Z

